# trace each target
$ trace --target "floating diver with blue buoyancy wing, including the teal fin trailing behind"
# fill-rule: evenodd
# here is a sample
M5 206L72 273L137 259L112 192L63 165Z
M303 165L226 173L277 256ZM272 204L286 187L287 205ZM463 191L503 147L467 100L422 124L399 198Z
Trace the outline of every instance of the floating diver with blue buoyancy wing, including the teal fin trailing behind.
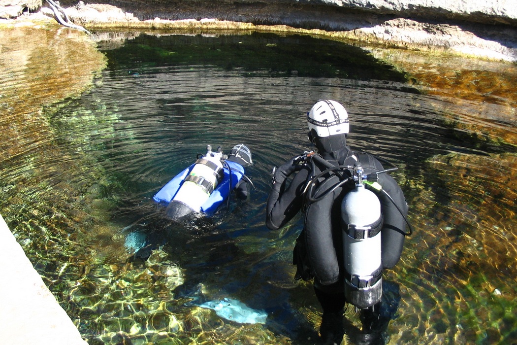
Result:
M205 155L198 154L197 160L174 176L154 196L154 200L166 206L165 214L174 221L183 222L187 216L213 214L226 202L229 206L232 190L237 199L248 197L253 183L245 175L245 167L253 161L250 149L244 144L235 145L228 156L222 148L214 152L207 145ZM140 220L142 222L142 220ZM124 229L127 233L125 247L134 251L133 259L147 260L151 251L166 244L171 238L171 228L152 228L145 222L132 224ZM149 228L150 227L150 228Z

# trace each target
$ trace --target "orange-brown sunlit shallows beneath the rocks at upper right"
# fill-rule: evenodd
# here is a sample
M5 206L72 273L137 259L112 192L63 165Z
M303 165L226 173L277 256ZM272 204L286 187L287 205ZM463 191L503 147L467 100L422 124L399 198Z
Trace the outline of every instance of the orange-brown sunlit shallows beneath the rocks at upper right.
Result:
M455 136L517 145L517 65L430 55L403 50L373 50L378 58L389 58L408 71L444 111ZM443 102L445 101L445 102ZM512 129L513 127L513 129Z

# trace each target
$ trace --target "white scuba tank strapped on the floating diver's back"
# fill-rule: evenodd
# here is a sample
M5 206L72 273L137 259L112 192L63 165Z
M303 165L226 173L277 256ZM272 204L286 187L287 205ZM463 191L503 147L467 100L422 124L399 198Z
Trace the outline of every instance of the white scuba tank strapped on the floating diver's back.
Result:
M192 212L201 212L201 206L221 182L224 174L222 149L212 152L206 146L206 155L197 159L190 173L185 177L165 213L171 218L179 218Z

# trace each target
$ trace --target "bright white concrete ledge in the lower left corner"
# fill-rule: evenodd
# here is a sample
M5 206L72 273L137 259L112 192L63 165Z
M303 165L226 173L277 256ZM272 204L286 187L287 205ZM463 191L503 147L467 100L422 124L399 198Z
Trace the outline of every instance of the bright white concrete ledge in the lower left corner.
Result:
M87 345L0 215L1 342Z

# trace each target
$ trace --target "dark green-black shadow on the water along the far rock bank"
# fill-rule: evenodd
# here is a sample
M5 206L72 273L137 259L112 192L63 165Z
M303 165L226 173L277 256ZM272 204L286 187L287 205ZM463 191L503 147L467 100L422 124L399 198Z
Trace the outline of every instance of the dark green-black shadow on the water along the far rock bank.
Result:
M249 76L346 78L406 81L406 76L358 47L307 36L251 33L249 35L140 35L124 46L105 51L112 73L153 66L214 66L242 70Z

